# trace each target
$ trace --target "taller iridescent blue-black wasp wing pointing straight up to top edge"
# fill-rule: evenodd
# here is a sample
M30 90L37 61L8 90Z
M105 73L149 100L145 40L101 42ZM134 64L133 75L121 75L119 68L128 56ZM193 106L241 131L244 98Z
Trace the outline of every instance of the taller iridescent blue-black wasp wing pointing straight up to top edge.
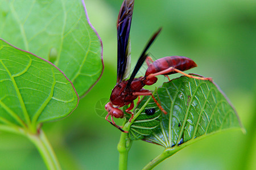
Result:
M130 71L130 28L134 0L125 0L117 19L117 83L129 76Z

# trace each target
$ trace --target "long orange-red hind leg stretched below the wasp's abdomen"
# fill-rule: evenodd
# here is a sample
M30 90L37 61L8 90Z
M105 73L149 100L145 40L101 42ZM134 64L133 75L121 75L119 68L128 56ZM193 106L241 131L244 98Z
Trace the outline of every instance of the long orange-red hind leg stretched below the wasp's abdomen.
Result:
M171 73L172 71L175 71L175 72L177 72L177 73L183 74L183 75L185 75L185 76L187 76L187 77L189 77L189 78L194 78L194 79L199 79L199 80L209 80L210 82L213 81L212 78L205 78L205 77L199 77L199 76L193 76L193 75L186 74L186 73L184 73L183 71L180 71L180 70L178 70L178 69L175 69L174 67L170 67L170 68L168 68L168 69L166 69L166 70L159 71L158 73L149 74L149 75L147 76L147 78L150 79L150 78L152 78L152 77L154 77L154 76L156 76L156 75L168 74L168 73Z

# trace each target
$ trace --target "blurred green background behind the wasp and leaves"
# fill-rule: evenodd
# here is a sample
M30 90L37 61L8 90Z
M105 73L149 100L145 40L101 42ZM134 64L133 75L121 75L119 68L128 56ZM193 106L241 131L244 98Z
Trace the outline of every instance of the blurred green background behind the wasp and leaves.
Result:
M71 116L43 125L63 169L118 168L120 132L96 113L95 105L108 99L115 85L115 24L121 3L85 0L90 22L104 45L105 70ZM205 138L155 169L256 169L256 1L135 0L131 27L132 68L152 33L163 27L150 49L152 56L192 58L199 66L187 73L212 77L232 101L247 130L247 134L227 130ZM171 78L176 76L180 75ZM160 76L156 86L164 80ZM163 147L135 141L128 168L141 169L162 151ZM30 141L1 132L0 169L46 167Z

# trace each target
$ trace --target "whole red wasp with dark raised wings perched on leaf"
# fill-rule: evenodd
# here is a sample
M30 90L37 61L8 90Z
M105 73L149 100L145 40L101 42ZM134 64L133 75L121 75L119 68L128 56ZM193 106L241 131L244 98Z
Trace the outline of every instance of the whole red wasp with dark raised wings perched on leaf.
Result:
M117 84L112 90L112 94L110 96L110 102L105 105L106 111L108 114L106 116L106 120L110 122L113 126L121 130L122 132L128 133L128 131L123 130L120 126L116 125L113 117L115 118L123 118L123 111L119 108L130 105L129 108L126 109L125 112L131 114L131 118L129 121L133 119L134 113L131 110L134 108L134 100L137 99L138 96L146 96L151 95L152 92L150 90L146 90L143 87L145 85L152 85L156 83L158 78L156 75L169 75L175 73L181 73L189 78L202 79L202 80L212 80L211 78L201 78L197 76L192 76L183 73L185 70L189 70L193 67L196 67L196 63L192 61L192 59L181 56L170 56L163 57L157 59L156 61L152 61L152 58L148 56L147 49L150 47L152 42L155 40L156 36L158 36L161 29L159 29L148 41L146 47L144 48L141 56L138 59L138 62L133 70L133 73L130 76L130 79L126 80L129 76L130 71L130 27L131 27L131 18L133 16L133 7L134 0L125 0L122 3L121 9L119 11L118 20L117 20L117 40L118 40L118 48L117 48ZM139 78L135 78L135 75L138 73L141 68L143 62L146 60L148 65L148 69L144 76ZM150 63L150 61L152 63ZM170 79L169 79L170 80ZM152 96L155 103L158 105L160 110L167 114L166 111L162 108L162 106L156 101L154 96ZM108 117L111 116L111 120L108 120Z

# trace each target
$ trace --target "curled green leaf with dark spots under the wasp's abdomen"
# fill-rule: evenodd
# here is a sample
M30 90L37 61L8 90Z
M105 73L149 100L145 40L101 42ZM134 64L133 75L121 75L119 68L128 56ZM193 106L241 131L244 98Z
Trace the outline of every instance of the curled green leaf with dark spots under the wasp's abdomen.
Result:
M162 113L160 126L144 136L144 141L171 148L225 129L241 128L229 100L210 81L181 76L164 83L157 93L167 114Z

